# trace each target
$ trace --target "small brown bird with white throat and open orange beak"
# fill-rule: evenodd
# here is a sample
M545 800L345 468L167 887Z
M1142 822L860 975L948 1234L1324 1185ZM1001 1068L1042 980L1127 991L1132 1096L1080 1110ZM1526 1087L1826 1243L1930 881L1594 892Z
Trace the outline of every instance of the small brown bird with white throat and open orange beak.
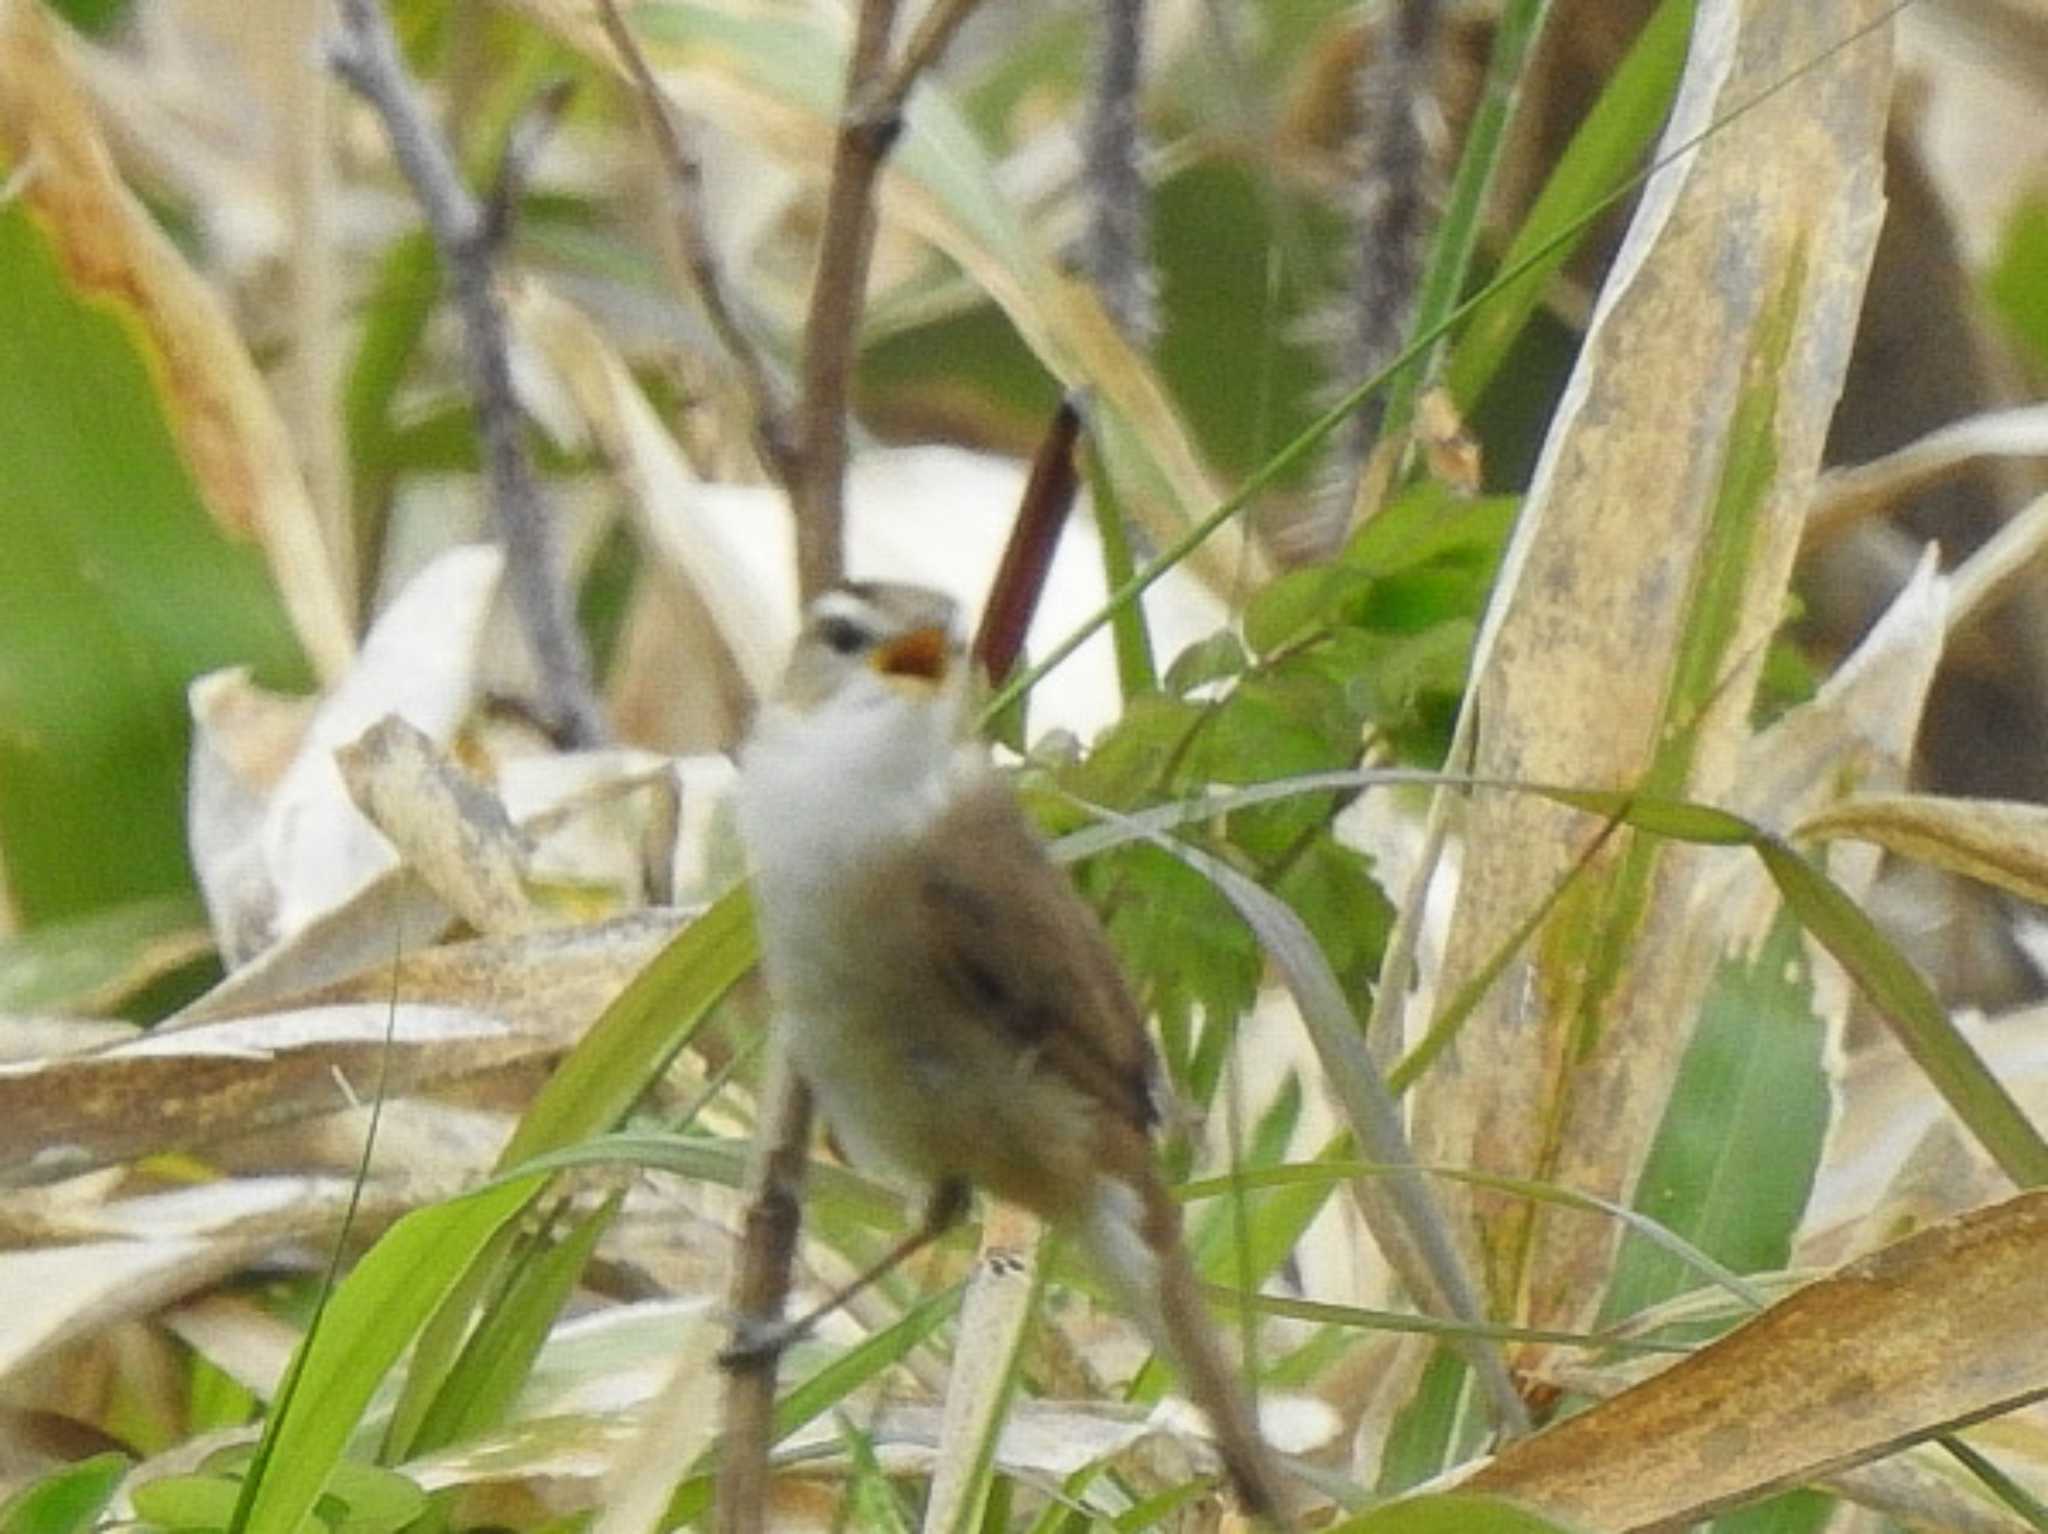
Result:
M811 604L762 707L739 823L788 1059L856 1163L926 1188L891 1260L975 1186L1069 1231L1180 1370L1247 1509L1278 1518L1153 1163L1145 1022L1094 911L967 739L967 672L950 598L846 584Z

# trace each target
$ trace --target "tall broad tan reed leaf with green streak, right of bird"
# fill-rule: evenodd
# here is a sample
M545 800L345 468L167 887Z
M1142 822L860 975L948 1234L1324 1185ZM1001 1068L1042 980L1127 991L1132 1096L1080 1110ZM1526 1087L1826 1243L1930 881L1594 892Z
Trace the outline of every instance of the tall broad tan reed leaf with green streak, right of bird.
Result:
M1645 186L1544 444L1466 694L1479 776L1710 803L1735 784L1882 217L1890 39L1841 47L1876 10L1702 6L1665 143L1706 137ZM1440 993L1597 832L1475 801ZM1708 975L1700 866L1612 838L1421 1081L1421 1161L1628 1198ZM1458 1202L1501 1315L1587 1319L1614 1227Z

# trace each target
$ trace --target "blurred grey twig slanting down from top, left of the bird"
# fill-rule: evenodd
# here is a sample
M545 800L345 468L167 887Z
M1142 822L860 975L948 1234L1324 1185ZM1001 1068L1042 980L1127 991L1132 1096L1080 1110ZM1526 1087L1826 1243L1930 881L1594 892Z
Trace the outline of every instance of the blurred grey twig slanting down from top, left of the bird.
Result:
M463 317L483 471L506 551L512 606L539 670L541 713L565 745L602 741L606 729L590 688L590 655L569 614L541 479L526 453L512 391L506 317L492 283L498 254L492 219L463 184L446 139L412 86L383 6L377 0L340 0L340 14L342 31L328 45L328 68L383 119L391 154L420 199ZM512 174L520 174L518 166Z

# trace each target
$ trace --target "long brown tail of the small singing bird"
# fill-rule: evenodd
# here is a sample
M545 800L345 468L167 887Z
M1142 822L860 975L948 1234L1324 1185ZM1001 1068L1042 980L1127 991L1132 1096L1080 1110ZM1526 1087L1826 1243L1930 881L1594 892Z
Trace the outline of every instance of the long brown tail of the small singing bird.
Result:
M1153 1346L1180 1372L1188 1399L1217 1434L1245 1509L1272 1526L1286 1516L1274 1454L1260 1436L1257 1415L1239 1372L1223 1352L1202 1305L1202 1288L1180 1239L1180 1204L1147 1167L1141 1182L1104 1176L1079 1237L1090 1262L1116 1301L1145 1327Z

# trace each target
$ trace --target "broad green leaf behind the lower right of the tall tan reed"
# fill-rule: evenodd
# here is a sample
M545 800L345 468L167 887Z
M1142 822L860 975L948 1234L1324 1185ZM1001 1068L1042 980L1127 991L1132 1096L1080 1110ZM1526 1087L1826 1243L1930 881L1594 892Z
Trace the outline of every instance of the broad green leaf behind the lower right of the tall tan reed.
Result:
M1829 1085L1800 926L1780 913L1753 961L1724 958L1700 1010L1634 1206L1735 1272L1788 1266L1806 1210ZM1630 1233L1604 1323L1696 1284L1669 1247Z

